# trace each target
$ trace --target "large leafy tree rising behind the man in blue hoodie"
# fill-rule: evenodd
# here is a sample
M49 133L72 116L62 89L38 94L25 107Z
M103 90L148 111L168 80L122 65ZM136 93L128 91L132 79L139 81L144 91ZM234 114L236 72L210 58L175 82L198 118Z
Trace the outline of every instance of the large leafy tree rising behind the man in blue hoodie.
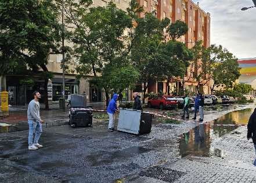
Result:
M77 58L76 71L84 78L93 75L91 83L104 88L108 104L111 91L124 89L138 76L129 59L133 19L140 11L138 3L132 1L125 12L113 2L93 8L88 8L91 1L64 2L66 23L74 27L70 39Z

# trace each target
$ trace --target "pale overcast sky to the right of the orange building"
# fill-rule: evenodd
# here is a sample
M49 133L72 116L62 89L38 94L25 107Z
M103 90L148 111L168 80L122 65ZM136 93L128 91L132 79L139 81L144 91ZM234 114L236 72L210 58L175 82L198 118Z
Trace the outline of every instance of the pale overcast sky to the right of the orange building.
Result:
M194 2L198 2L194 0ZM251 0L199 0L211 13L211 44L226 47L237 58L256 57L256 8Z

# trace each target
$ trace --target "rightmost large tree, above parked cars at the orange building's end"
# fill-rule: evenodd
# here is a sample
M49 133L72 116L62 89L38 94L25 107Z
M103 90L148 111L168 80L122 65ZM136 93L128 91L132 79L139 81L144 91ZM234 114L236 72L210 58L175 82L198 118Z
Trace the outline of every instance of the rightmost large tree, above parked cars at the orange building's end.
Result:
M213 81L211 93L216 86L232 87L233 82L239 78L239 65L237 58L221 45L204 47L197 42L192 48L193 60L190 67L190 77L197 82L197 92L201 87Z

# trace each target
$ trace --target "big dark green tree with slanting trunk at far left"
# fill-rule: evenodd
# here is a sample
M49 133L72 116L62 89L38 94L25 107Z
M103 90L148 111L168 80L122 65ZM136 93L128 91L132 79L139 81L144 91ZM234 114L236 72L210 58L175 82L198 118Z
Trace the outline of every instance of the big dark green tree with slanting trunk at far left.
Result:
M42 74L45 107L48 106L47 83L51 74L49 50L59 47L59 12L52 0L17 0L0 2L0 70L1 74L26 71ZM39 72L39 69L44 72Z

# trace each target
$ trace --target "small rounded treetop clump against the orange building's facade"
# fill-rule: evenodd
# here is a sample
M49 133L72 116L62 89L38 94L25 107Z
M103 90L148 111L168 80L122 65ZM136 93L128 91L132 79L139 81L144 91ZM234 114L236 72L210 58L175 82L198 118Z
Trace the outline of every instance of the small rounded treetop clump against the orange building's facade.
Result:
M188 25L185 22L177 20L168 27L167 31L169 32L172 40L175 40L179 39L182 35L185 35L188 30Z

